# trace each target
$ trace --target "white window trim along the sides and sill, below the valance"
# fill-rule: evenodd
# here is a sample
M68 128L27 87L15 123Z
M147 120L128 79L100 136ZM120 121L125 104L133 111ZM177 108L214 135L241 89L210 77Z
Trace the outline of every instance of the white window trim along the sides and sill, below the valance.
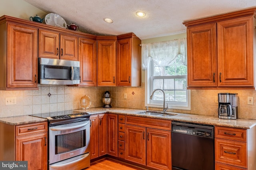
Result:
M151 62L151 61L150 61ZM152 69L152 67L150 67L151 64L148 64L147 66L147 69L145 69L145 106L146 107L157 107L157 108L162 108L163 107L163 103L162 102L155 102L154 104L152 104L150 102L150 83L151 83L151 78L150 78L150 72L148 71L149 69ZM172 102L167 102L168 103L168 106L169 106L169 109L182 109L182 110L191 110L191 92L190 90L186 90L186 93L187 93L187 98L188 98L188 101L187 101L187 105L186 106L182 106L182 105L173 105ZM159 104L158 104L159 103Z

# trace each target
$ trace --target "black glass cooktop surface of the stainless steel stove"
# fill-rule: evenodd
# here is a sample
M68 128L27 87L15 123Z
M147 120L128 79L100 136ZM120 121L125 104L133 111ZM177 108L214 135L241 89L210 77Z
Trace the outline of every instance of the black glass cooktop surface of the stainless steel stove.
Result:
M90 114L86 112L81 112L81 111L65 110L65 111L54 111L49 113L32 114L30 116L47 118L49 120L52 120L52 119L70 119L70 118L76 118L76 117L90 117Z

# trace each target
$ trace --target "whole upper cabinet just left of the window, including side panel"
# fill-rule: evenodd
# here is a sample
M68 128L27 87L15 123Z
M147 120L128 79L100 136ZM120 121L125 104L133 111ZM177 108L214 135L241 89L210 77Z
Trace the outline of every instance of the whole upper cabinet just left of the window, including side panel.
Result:
M117 86L141 86L141 40L129 33L117 36Z

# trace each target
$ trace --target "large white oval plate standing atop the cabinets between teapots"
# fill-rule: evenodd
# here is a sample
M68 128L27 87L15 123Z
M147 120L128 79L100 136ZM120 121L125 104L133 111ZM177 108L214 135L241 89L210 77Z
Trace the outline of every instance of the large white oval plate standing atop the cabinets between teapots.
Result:
M67 28L66 21L58 14L55 14L55 13L47 14L44 20L47 25L52 25L60 28Z

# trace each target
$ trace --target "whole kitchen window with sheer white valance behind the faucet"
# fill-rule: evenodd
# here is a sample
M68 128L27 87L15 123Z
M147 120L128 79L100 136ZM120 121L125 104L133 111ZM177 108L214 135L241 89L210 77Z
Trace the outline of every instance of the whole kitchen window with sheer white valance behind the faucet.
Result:
M145 69L146 106L163 107L165 92L169 108L190 109L190 90L187 90L186 39L142 45ZM149 64L148 64L149 63Z

